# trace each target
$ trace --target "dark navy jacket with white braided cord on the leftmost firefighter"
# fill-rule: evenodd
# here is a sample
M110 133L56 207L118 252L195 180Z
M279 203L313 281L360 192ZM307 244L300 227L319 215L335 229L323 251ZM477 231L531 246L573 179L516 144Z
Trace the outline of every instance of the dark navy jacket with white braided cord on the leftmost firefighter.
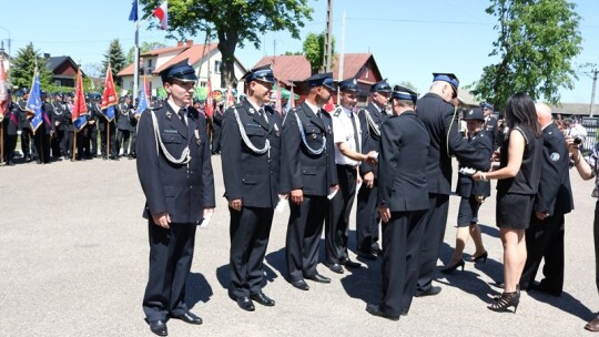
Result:
M193 108L187 108L187 126L171 105L154 110L158 129L166 150L179 159L190 146L191 161L173 164L161 149L156 149L150 110L145 110L138 129L138 176L145 194L145 216L169 212L173 223L199 223L204 208L215 206L214 177L205 120ZM160 145L159 145L160 146Z

